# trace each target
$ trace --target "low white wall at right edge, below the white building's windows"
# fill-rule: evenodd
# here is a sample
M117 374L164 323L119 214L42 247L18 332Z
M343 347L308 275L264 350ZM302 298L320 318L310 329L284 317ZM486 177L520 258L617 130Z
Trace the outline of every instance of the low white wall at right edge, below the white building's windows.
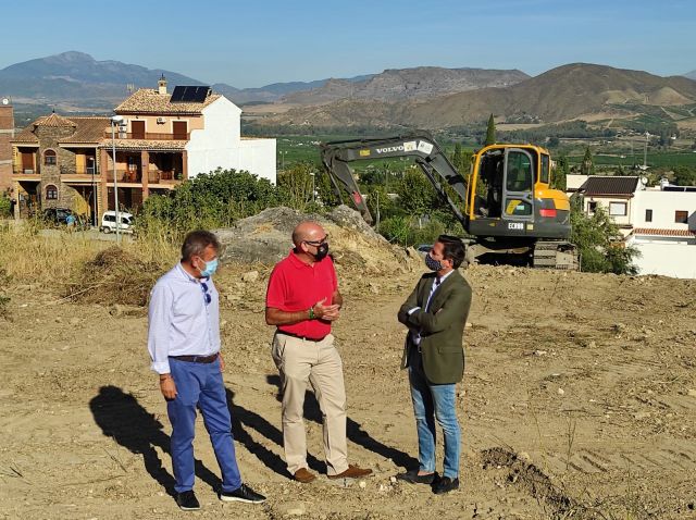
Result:
M696 278L696 238L631 236L626 245L641 257L634 263L638 274L661 274L675 278Z

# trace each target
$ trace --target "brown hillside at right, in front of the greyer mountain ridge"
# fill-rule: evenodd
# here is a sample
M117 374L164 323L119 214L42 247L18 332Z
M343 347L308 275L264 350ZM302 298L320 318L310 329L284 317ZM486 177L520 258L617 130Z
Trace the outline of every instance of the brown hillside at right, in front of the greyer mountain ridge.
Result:
M296 108L269 119L273 124L314 126L410 126L442 128L481 122L488 114L536 122L573 119L631 119L655 107L696 104L696 82L647 72L575 63L552 69L509 87L481 88L408 102L351 98L322 107Z

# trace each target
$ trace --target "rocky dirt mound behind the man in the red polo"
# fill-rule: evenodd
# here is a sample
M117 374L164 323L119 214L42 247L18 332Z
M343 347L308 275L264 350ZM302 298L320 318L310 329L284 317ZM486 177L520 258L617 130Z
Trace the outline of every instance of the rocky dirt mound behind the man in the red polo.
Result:
M359 269L369 275L411 271L413 253L389 244L347 206L327 214L306 214L286 207L269 208L238 221L233 227L215 230L224 246L223 262L273 265L288 255L297 224L314 221L328 234L330 252L337 269Z

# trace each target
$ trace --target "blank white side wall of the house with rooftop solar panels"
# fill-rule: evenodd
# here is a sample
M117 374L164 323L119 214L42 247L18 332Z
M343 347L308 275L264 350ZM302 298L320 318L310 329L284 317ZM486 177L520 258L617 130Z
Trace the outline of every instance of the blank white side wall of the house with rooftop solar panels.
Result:
M202 110L203 129L186 145L188 177L222 169L247 170L275 184L275 139L243 139L241 110L225 97Z

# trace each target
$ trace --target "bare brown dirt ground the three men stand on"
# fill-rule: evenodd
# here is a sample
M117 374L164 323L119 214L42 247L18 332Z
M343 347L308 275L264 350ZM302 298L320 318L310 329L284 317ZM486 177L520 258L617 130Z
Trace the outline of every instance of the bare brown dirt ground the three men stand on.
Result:
M252 269L259 277L243 282ZM237 456L268 503L217 500L219 469L199 421L202 510L179 511L167 495L171 428L148 368L145 312L15 284L7 287L11 321L0 318L0 518L696 518L694 281L467 271L475 299L458 403L462 487L435 496L391 480L417 462L396 312L419 273L339 271L350 460L374 476L302 485L282 458L262 313L268 269L221 271ZM322 472L311 395L306 414L311 466Z

